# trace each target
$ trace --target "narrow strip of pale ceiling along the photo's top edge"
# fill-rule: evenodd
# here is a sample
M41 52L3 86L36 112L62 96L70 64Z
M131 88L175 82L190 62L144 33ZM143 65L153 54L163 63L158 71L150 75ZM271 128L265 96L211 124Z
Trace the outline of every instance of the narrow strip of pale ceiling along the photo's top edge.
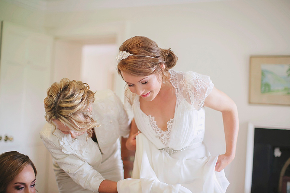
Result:
M5 0L19 6L46 12L92 11L106 8L176 5L223 0Z

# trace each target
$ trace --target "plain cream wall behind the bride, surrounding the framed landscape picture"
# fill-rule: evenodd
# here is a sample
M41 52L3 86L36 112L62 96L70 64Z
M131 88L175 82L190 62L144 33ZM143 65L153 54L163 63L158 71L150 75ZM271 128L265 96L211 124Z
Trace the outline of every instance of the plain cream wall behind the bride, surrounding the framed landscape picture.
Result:
M290 107L248 103L250 55L289 55L290 2L219 1L145 8L106 9L47 14L50 33L79 26L125 24L124 41L147 36L160 47L172 48L178 71L193 70L211 77L215 87L237 104L240 132L235 160L225 169L227 192L243 192L247 123L290 125ZM60 20L59 18L62 18ZM123 85L120 84L119 86ZM221 113L206 109L205 142L212 154L225 151Z

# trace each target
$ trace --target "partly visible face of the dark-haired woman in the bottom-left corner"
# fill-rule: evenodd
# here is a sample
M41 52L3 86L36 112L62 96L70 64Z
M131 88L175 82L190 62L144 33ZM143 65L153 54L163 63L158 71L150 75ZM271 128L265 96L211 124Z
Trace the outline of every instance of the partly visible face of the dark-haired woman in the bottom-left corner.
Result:
M35 181L34 170L29 164L9 182L6 193L35 193Z

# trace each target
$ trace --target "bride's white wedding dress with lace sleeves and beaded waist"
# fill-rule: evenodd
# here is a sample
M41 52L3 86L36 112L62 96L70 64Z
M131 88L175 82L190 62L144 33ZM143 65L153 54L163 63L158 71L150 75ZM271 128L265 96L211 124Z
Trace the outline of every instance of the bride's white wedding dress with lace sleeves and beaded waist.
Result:
M133 110L141 131L136 137L132 179L118 182L119 193L223 193L229 182L224 170L215 172L218 156L211 156L205 134L205 98L214 85L210 78L192 71L169 70L176 90L174 118L167 131L159 129L154 117L140 109L139 96L126 92L126 103Z

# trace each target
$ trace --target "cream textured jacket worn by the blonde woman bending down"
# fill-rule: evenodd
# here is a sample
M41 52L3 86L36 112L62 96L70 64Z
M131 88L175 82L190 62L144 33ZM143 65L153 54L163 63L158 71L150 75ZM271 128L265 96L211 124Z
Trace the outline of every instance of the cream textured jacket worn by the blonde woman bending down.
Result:
M40 132L40 138L50 151L53 159L69 177L83 188L98 192L99 185L104 180L98 172L102 156L111 154L119 136L127 137L129 124L127 113L121 100L111 90L98 91L92 105L94 120L101 124L94 128L98 140L86 140L87 133L77 136L72 141L69 134L63 134L47 123ZM99 147L98 147L99 146Z

